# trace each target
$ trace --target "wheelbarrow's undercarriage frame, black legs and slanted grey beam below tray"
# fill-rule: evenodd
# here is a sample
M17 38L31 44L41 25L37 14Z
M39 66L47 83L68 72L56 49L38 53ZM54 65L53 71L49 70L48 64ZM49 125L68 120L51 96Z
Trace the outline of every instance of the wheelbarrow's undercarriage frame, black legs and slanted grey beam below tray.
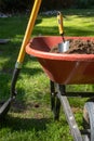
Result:
M68 123L69 128L70 128L71 134L73 137L73 140L75 141L83 141L83 137L89 137L90 131L89 130L79 130L78 124L75 119L69 101L67 99L67 97L69 95L68 94L69 92L68 93L66 92L66 86L55 84L52 80L50 80L50 87L51 87L51 107L52 107L52 111L54 113L54 119L58 120L59 108L62 105L63 111L64 111L65 116L66 116L66 119L67 119L67 123ZM83 98L89 97L89 92L78 92L78 93L79 93L79 97L83 97ZM91 92L90 97L93 98L93 94L94 93ZM73 97L78 97L78 95L73 95Z

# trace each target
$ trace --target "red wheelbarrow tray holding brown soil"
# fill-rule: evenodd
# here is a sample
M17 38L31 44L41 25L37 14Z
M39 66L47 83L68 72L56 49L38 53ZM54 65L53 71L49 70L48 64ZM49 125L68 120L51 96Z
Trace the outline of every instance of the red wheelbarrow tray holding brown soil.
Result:
M94 37L65 37L68 39L94 40ZM49 78L62 85L94 84L94 54L51 53L51 48L63 42L59 36L35 37L26 52L38 59Z

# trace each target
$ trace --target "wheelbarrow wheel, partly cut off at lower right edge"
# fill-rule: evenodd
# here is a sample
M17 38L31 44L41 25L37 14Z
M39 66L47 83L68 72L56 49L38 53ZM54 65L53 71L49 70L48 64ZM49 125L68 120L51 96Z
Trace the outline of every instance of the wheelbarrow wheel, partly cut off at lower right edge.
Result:
M89 132L89 141L94 141L94 102L86 102L83 108L84 129Z

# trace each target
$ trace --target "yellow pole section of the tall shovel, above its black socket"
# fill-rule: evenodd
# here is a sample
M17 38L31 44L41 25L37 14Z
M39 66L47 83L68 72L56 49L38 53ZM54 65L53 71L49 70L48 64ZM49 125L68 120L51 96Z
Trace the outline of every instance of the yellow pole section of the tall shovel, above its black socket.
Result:
M39 9L40 9L40 4L41 4L41 0L35 0L35 4L33 4L33 8L32 8L32 11L31 11L31 14L30 14L30 18L29 18L29 22L28 22L28 25L27 25L27 29L26 29L26 33L25 33L25 37L24 37L24 40L23 40L23 43L22 43L22 47L21 47L18 57L17 57L18 64L23 63L23 61L24 61L25 48L26 48L26 46L27 46L27 43L30 39L30 35L31 35L31 31L32 31Z

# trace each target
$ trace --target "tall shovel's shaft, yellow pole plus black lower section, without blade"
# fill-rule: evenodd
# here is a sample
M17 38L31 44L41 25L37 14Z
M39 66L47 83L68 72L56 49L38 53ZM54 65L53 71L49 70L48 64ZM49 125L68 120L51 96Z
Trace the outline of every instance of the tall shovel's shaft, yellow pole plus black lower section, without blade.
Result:
M12 95L12 98L13 97L15 98L15 95L16 95L15 85L16 85L16 81L17 81L17 78L18 78L18 75L19 75L19 72L21 72L21 68L22 68L22 64L23 64L23 61L24 61L24 57L25 57L25 48L26 48L26 46L27 46L27 43L30 39L30 35L31 35L31 31L32 31L32 28L33 28L33 25L35 25L37 15L38 15L40 4L41 4L41 0L35 0L35 4L33 4L33 8L32 8L32 11L31 11L31 14L30 14L30 18L29 18L29 22L28 22L28 25L27 25L27 29L26 29L26 33L25 33L25 36L24 36L24 40L23 40L23 43L22 43L22 47L21 47L21 51L19 51L17 61L16 61L16 64L15 64L13 76L12 76L12 84L11 84L11 95Z

